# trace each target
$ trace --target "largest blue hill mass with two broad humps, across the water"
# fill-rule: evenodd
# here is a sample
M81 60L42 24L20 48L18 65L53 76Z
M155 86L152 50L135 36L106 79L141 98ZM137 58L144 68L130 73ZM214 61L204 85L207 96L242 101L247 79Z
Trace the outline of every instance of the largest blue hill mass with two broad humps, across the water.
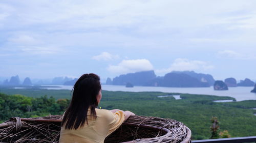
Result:
M153 87L209 87L213 85L215 79L209 74L195 73L194 71L170 72L164 76L156 76L155 72L143 71L136 73L128 73L117 76L111 81L108 78L107 83L113 85L125 85L132 83L140 86Z

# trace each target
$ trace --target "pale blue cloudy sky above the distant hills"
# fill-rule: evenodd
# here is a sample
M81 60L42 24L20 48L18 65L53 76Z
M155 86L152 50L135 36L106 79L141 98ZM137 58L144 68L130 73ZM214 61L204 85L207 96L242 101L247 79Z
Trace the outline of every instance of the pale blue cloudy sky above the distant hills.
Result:
M2 0L0 80L193 70L256 80L254 0Z

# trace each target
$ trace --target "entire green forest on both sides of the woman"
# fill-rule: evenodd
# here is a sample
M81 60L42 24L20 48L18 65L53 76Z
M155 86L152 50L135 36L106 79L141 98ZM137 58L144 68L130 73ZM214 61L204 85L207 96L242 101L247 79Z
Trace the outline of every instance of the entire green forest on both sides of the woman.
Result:
M10 95L0 94L0 121L10 117L62 114L71 98L70 90L1 89L1 92ZM192 139L207 139L211 136L211 117L218 117L221 130L228 130L232 137L256 134L256 117L253 115L255 110L248 109L256 108L255 100L217 103L212 100L234 98L192 94L180 94L181 100L175 100L174 97L158 98L162 95L177 93L102 91L99 107L131 110L141 116L175 119L191 129Z

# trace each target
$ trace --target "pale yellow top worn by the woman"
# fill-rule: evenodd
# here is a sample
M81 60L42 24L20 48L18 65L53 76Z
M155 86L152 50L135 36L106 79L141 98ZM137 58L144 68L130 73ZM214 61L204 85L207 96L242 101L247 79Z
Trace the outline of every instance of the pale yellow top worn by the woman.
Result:
M95 109L97 118L93 119L90 116L91 110L88 110L87 123L84 126L74 130L66 130L65 125L60 130L60 143L73 142L99 142L103 143L106 136L114 132L124 122L124 114L122 111L115 113L106 109Z

